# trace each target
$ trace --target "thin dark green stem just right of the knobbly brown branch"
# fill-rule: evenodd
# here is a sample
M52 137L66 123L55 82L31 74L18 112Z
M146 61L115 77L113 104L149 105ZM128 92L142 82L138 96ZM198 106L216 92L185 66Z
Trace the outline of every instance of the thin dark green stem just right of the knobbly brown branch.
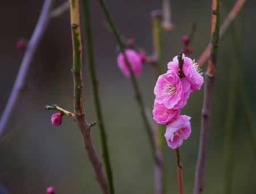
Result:
M108 143L107 143L107 138L106 138L106 133L105 133L105 126L104 126L104 122L103 122L103 118L102 118L102 111L101 111L102 108L101 108L101 104L100 104L97 75L96 75L96 70L95 70L95 65L94 65L92 32L91 32L88 0L82 1L82 5L84 8L84 19L85 19L86 52L87 52L88 61L89 61L90 78L92 81L93 97L94 97L94 103L95 103L95 107L96 107L97 120L99 121L98 126L100 129L102 157L104 159L106 178L108 180L108 186L109 186L108 187L109 193L114 193L113 174L112 174L112 168L110 165Z

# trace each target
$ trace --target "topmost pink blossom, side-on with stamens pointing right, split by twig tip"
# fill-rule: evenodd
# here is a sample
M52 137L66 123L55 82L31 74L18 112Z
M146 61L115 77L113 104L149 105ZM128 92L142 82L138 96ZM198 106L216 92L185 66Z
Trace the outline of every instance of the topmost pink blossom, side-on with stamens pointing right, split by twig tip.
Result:
M192 61L191 58L185 57L185 54L182 55L184 60L182 71L184 77L188 79L191 83L191 92L200 90L201 86L203 85L204 78L202 73L200 73L200 68L195 61ZM176 73L179 68L179 61L177 60L177 56L171 62L167 64L168 69L174 70Z

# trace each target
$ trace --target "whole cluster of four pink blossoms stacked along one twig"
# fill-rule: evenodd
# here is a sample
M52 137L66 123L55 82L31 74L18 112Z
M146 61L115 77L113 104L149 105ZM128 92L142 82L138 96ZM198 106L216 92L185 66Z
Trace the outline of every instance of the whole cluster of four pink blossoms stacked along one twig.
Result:
M197 63L184 54L179 77L177 57L167 64L167 73L159 76L154 88L154 120L159 124L167 124L164 136L172 149L179 147L191 134L191 117L180 115L180 111L187 104L191 92L200 90L204 82Z

